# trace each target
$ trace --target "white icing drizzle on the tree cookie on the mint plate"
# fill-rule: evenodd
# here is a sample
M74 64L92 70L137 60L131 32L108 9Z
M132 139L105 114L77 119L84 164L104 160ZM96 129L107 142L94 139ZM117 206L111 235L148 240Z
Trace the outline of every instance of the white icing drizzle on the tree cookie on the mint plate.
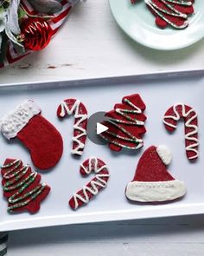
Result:
M175 7L172 4L169 4L167 2L170 3L177 3L177 4L181 4L181 5L187 5L189 6L188 2L178 2L178 1L165 1L165 0L161 0L161 2L163 2L166 7L168 7L170 10L172 10L171 12L169 10L164 10L163 8L159 7L156 5L156 3L153 3L151 0L145 0L145 3L150 6L150 8L158 15L160 16L166 23L169 23L172 27L174 27L175 29L185 29L188 26L188 20L186 20L181 26L176 25L175 23L172 23L167 17L164 16L164 14L168 14L170 16L179 16L182 17L184 19L187 19L188 16L184 13L182 13L179 10L176 10ZM191 2L189 2L191 3ZM192 5L192 3L190 4Z

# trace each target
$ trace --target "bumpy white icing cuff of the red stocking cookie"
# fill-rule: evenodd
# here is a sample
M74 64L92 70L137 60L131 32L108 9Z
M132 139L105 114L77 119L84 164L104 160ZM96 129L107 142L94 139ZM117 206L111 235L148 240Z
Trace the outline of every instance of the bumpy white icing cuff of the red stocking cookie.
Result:
M41 113L41 108L35 102L31 100L22 102L0 120L0 129L3 136L8 140L16 137L17 133L27 125L29 120L39 113Z

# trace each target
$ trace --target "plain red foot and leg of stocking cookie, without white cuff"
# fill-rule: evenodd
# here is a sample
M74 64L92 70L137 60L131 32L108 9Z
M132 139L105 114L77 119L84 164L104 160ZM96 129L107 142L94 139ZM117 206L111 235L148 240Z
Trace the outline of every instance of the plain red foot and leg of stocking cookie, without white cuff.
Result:
M61 134L42 115L31 118L17 138L29 149L35 167L46 170L60 161L63 151Z

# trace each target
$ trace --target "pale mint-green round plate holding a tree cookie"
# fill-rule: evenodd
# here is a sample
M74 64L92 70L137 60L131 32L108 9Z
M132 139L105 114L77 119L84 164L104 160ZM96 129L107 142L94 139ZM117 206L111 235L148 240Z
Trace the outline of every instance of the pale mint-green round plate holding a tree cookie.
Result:
M195 0L194 15L188 18L185 30L170 27L161 30L156 27L155 16L146 7L144 1L135 5L130 0L109 0L112 15L122 30L138 43L153 49L181 49L204 36L204 1Z

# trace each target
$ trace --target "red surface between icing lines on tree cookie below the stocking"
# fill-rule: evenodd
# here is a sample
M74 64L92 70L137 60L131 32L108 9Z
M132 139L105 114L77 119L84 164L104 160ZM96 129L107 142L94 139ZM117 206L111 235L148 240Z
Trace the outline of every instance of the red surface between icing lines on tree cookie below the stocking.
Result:
M11 163L11 162L13 162L13 161L15 161L15 159L6 159L6 161L4 161L4 163L3 163L3 165L7 165L7 164L9 164L9 163ZM21 167L22 167L22 162L21 162L20 166L15 170L15 172L18 171ZM3 174L5 174L6 171L8 171L10 168L12 168L12 167L2 168L2 170L1 170L2 176L3 176ZM32 171L32 170L31 170L31 168L29 167L29 171L28 171L26 174L24 174L24 175L22 176L22 178L17 181L17 183L18 183L18 182L21 182L21 181L24 180L26 177L28 177L29 174L31 173L31 171ZM8 180L6 180L6 181L8 181ZM3 179L2 185L4 185L4 184L6 183L6 181ZM33 188L35 188L36 186L38 186L38 185L40 184L40 181L41 181L41 175L40 175L40 174L37 174L37 176L35 177L35 181L33 181L33 182L29 185L29 187L27 187L27 188L22 192L22 194L20 194L19 196L22 196L23 194L27 194L27 193L28 193L29 191L31 191ZM15 185L15 183L14 183L14 185ZM4 196L5 198L9 199L12 194L15 194L15 193L19 190L19 188L20 188L20 187L18 187L18 188L16 188L16 189L13 189L13 190L11 190L10 192L5 192L5 191L3 191L3 196ZM50 187L48 187L48 185L46 185L46 186L44 187L43 191L41 192L41 194L39 194L39 195L35 198L35 200L31 200L31 201L29 202L29 204L26 205L26 206L18 207L18 208L16 208L16 209L13 209L12 212L13 212L13 213L24 212L24 211L28 211L29 213L36 213L36 212L38 212L38 211L40 210L40 207L41 207L41 201L44 200L44 199L48 196L49 192L50 192ZM26 200L26 199L24 199L24 200ZM8 203L8 207L10 207L10 206L12 206L12 204Z

